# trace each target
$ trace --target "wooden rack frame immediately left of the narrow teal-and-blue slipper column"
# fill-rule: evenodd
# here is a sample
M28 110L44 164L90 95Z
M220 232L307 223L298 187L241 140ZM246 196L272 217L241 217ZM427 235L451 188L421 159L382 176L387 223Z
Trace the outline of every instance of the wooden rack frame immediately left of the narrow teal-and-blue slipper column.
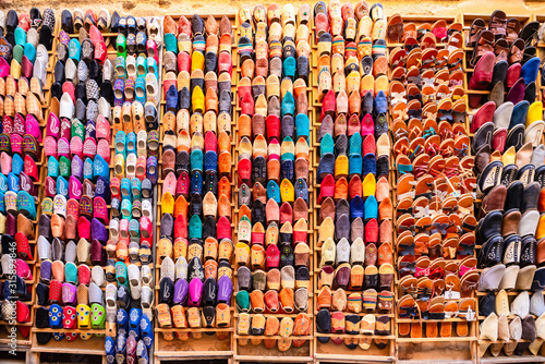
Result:
M44 126L44 130L43 130L43 137L45 139L45 136L46 136L46 129L47 129L47 116L49 116L50 112L57 112L58 113L58 109L57 110L53 110L53 106L51 105L51 93L50 93L50 87L51 87L51 84L52 82L55 81L55 64L57 63L57 44L59 41L59 32L61 31L61 22L59 19L57 19L57 29L53 34L55 38L53 38L53 47L52 47L52 51L49 52L50 54L50 58L49 58L49 69L48 70L48 88L47 88L47 96L46 96L46 99L48 100L47 101L47 106L49 106L49 109L47 110L46 112L46 117L45 117L45 122L44 122L44 125L40 125L40 126ZM107 32L102 32L102 37L104 37L104 40L107 45L107 57L108 59L110 60L110 62L112 64L116 64L116 56L117 56L117 51L114 49L114 45L116 45L116 37L118 36L117 33L107 33ZM77 38L78 37L78 34L77 33L74 33L74 34L69 34L70 38ZM113 85L113 83L112 83ZM57 107L59 106L59 104L57 102ZM113 106L111 108L113 110ZM113 120L111 119L111 116L110 116L110 124L113 123ZM41 147L44 146L44 144L41 143ZM43 155L44 155L44 159L43 159L43 167L41 167L41 170L40 170L40 178L41 178L41 181L45 180L46 175L47 175L47 172L48 172L48 169L47 169L47 159L45 158L45 154L44 154L44 147L41 148L43 150ZM111 157L110 157L110 178L113 177L113 166L114 166L114 162L113 162L113 157L114 157L114 135L111 136L111 143L110 143L110 154L111 154ZM45 185L44 183L41 183L41 186L40 186L40 201L45 197ZM108 209L111 209L111 204L108 204L107 205ZM41 214L41 205L38 206L38 210L37 210L37 217L39 218L40 214ZM111 219L111 213L109 213L109 218ZM106 229L108 230L109 226L106 226ZM37 229L38 227L36 226L36 235L37 235ZM106 248L106 246L105 246ZM35 278L35 282L36 284L39 282L39 257L36 257L36 265L38 267L38 269L36 269L36 278ZM92 268L92 267L89 267ZM102 268L106 268L105 266L102 266ZM100 288L102 290L102 295L105 294L105 287L101 287ZM37 298L35 299L35 305L34 305L34 312L40 307L38 304L37 304ZM46 308L48 306L45 306ZM35 315L33 315L33 320L34 320L34 317ZM65 338L63 338L62 340L60 341L56 341L55 339L51 338L51 340L45 344L45 345L41 345L38 343L37 341L37 338L36 338L36 333L38 332L62 332L62 333L68 333L68 332L76 332L76 333L87 333L87 335L90 335L90 338L87 339L87 340L82 340L81 337L78 336L77 339L75 339L74 341L68 341ZM33 360L33 363L40 363L41 362L41 359L40 359L40 355L44 354L44 355L48 355L47 357L55 357L56 354L71 354L73 360L74 361L81 361L83 360L84 356L86 355L93 355L93 356L100 356L101 357L101 361L102 361L102 364L106 364L106 352L105 352L105 335L107 332L107 329L80 329L80 328L75 328L75 329L51 329L51 328L45 328L45 329L38 329L36 328L35 326L33 326L32 328L32 348L31 348L31 354L32 354L32 360Z

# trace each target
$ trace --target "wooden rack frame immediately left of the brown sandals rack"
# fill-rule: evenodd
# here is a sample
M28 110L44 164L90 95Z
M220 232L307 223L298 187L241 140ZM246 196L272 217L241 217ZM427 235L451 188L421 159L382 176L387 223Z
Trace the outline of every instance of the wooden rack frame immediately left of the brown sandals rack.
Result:
M314 19L314 17L313 17ZM314 180L313 180L313 189L314 189L314 202L316 205L314 205L314 313L316 314L318 312L318 280L319 280L319 275L322 271L322 268L319 266L320 264L320 256L322 256L322 247L319 246L319 227L320 227L320 218L318 210L320 210L322 205L319 205L318 202L318 196L319 196L319 189L320 184L318 183L318 166L319 166L319 160L320 160L320 144L319 144L319 134L320 134L320 112L322 112L322 97L323 95L319 94L319 87L318 87L318 75L319 75L319 70L318 70L318 45L317 45L317 39L316 39L316 27L313 26L312 32L311 32L311 38L312 38L312 44L311 44L311 50L312 50L312 113L313 118L311 119L311 135L313 137L313 151L314 151L314 165L313 165L313 172L314 172ZM331 75L332 77L332 75ZM348 117L347 117L348 118ZM362 116L360 114L360 120L362 119ZM391 143L391 142L390 142ZM363 155L362 155L363 157ZM390 156L390 172L389 172L389 181L392 181L392 172L393 169L391 167L391 156ZM390 191L390 198L391 197L391 191ZM393 199L392 199L393 201ZM360 292L362 293L364 289L360 290L347 290L347 294L353 293L353 292ZM331 293L334 290L331 289ZM395 315L393 315L393 310L395 305L392 305L392 312L389 314L379 314L377 311L371 313L375 317L378 316L387 316L390 320L390 335L384 336L384 335L364 335L364 333L359 333L359 335L350 335L350 333L322 333L318 332L316 329L316 320L314 320L314 357L315 357L315 363L393 363L396 361L396 335L395 335ZM332 310L331 310L332 312ZM348 314L348 311L344 310L344 314ZM362 311L358 315L360 316L360 319L363 318L365 315L370 314L368 312ZM320 342L317 338L329 338L329 341L327 343ZM336 344L331 340L334 338L340 338L343 339L343 342ZM346 339L350 339L352 343L356 344L355 349L349 349L344 343ZM387 345L384 349L379 349L375 343L374 340L380 340L387 341ZM361 340L371 340L371 347L366 350L362 349L359 345L359 342Z

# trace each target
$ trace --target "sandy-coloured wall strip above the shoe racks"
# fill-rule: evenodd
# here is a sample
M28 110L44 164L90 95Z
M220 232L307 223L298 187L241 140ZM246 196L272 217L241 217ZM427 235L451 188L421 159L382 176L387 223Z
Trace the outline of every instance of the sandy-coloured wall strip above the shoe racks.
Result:
M59 12L64 9L80 8L84 12L87 9L98 11L99 8L105 7L110 11L118 10L121 14L130 12L136 16L153 16L153 15L167 15L167 14L221 14L234 13L242 5L253 8L256 4L263 3L265 5L275 1L256 1L256 0L0 0L0 9L9 10L15 9L16 11L28 11L32 7L44 9L51 7ZM281 5L284 3L315 3L313 1L286 1L277 0L276 3ZM326 3L328 0L326 0ZM341 0L341 3L346 1ZM355 1L350 1L355 3ZM368 1L372 4L375 1ZM396 12L401 14L445 14L457 15L461 12L487 14L494 10L504 10L508 15L519 14L542 14L545 15L545 1L523 1L523 0L383 0L382 1L387 14Z

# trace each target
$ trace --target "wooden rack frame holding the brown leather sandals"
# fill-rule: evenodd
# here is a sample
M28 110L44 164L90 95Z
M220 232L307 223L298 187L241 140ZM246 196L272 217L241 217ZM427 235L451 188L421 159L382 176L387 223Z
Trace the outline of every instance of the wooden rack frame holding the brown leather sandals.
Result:
M416 25L416 28L424 24L434 24L437 21L444 20L447 22L447 27L450 24L461 22L459 17L455 16L435 16L435 15L412 15L412 16L407 16L402 15L403 24L407 25L408 23L413 23ZM463 23L462 23L463 24ZM462 34L463 35L463 34ZM402 47L402 43L389 43L387 41L387 48L389 51L393 50L396 47ZM437 44L437 49L444 49L447 46L446 43L443 44ZM390 72L392 71L391 66L389 68ZM390 77L391 80L391 77ZM467 92L468 87L468 82L464 80L463 82L463 87ZM390 131L391 131L391 125L393 122L391 107L389 108L388 112L388 122L390 125ZM465 126L469 132L469 122L468 118L465 121ZM392 139L393 135L392 135ZM396 162L395 162L395 156L392 156L392 171L391 171L391 184L392 184L392 201L393 201L393 206L395 206L395 211L393 214L397 215L396 209L398 205L398 192L397 192L397 180L399 178L397 173L397 168L396 168ZM395 222L397 221L397 218L393 220ZM398 262L398 251L397 251L397 239L398 239L398 229L397 229L397 223L393 223L393 242L395 242L395 247L393 247L393 255L396 259L396 267L397 267L397 262ZM455 260L457 264L460 263L460 259ZM399 271L396 269L396 274L398 275ZM401 299L403 295L401 293L401 290L399 288L399 277L396 280L396 300L397 302ZM475 298L474 293L472 295ZM457 301L460 301L458 299ZM475 320L467 320L464 318L445 318L445 319L420 319L420 324L422 325L422 335L425 336L425 327L426 323L435 323L437 326L440 327L443 323L447 323L448 325L452 326L452 336L451 337L446 337L443 338L440 335L438 335L435 338L427 338L427 337L422 337L422 338L411 338L411 337L399 337L398 330L398 324L411 324L416 319L412 318L400 318L399 317L399 311L396 308L396 347L397 347L397 359L399 362L402 363L416 363L416 362L425 362L425 361L434 361L437 357L449 357L449 360L453 361L459 361L463 363L471 363L476 361L476 340L477 340L477 329L476 329L476 321ZM458 323L465 324L469 326L469 333L465 337L459 337L455 336L456 333L456 326L459 325Z

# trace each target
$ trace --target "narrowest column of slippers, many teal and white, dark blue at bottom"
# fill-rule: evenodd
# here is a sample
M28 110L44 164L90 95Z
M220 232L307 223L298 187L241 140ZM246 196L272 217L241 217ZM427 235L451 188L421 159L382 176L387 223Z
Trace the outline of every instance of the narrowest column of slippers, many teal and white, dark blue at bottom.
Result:
M112 219L106 246L108 263L114 264L117 281L106 287L106 305L112 313L107 317L114 317L108 325L112 328L116 324L116 330L107 332L106 354L108 360L116 357L118 362L138 360L146 363L152 356L149 350L154 340L152 248L154 186L158 181L162 34L157 17L136 19L116 12L111 16L100 16L101 13L98 19L107 20L104 28L117 33L116 80L112 81L112 94L108 95L113 106L110 124L113 124L116 141L114 159L110 162L113 165ZM85 24L87 19L85 15Z

